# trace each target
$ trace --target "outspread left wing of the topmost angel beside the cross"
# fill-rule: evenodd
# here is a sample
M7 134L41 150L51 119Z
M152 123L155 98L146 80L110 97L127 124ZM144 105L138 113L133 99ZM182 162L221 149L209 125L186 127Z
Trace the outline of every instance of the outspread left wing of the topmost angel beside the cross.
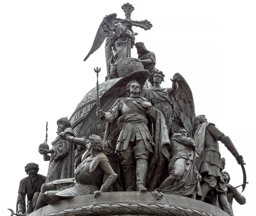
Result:
M102 45L103 41L106 37L110 37L115 29L115 24L113 23L113 20L116 18L116 14L110 14L102 20L102 23L99 25L99 29L96 33L96 36L93 41L93 46L90 49L90 52L87 54L87 56L84 58L84 61L89 58L93 52L95 52L99 47Z

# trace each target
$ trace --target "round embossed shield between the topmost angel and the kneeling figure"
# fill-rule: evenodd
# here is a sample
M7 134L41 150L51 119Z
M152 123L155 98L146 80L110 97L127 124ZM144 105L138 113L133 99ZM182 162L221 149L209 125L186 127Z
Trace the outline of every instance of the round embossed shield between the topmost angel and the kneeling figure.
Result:
M126 75L138 70L144 70L144 67L137 58L125 58L117 65L117 74L119 77L125 77Z

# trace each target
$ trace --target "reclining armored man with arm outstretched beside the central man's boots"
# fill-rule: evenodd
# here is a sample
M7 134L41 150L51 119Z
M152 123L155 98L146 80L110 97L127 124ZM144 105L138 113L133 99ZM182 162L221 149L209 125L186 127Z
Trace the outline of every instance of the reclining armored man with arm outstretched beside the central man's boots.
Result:
M87 142L84 138L67 136L65 132L61 132L60 136L74 144L84 145ZM45 203L51 204L62 199L86 194L94 194L94 198L96 198L100 193L106 192L116 180L117 174L111 168L108 158L102 153L104 150L102 138L98 135L91 135L89 139L88 149L81 156L81 164L76 169L75 179L60 179L45 185L44 193L38 198L40 207L43 207ZM108 178L99 189L104 174Z

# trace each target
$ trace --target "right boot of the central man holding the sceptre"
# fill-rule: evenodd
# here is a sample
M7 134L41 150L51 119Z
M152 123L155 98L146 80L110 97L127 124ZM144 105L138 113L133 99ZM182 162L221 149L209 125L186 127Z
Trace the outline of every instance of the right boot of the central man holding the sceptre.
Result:
M149 151L145 145L138 145L132 148L136 160L136 190L147 192L145 180L148 171L148 155Z

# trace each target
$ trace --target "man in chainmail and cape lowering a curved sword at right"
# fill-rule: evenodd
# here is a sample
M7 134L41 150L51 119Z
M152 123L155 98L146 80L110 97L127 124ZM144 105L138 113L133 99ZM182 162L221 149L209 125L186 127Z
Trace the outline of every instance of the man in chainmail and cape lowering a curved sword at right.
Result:
M243 157L239 155L230 138L219 131L214 124L207 122L204 115L198 115L195 118L194 140L199 155L197 168L203 177L201 184L202 197L200 200L204 201L207 193L214 189L215 193L218 194L221 208L228 214L233 215L227 201L227 187L221 174L223 166L218 141L225 144L239 164L244 164Z

